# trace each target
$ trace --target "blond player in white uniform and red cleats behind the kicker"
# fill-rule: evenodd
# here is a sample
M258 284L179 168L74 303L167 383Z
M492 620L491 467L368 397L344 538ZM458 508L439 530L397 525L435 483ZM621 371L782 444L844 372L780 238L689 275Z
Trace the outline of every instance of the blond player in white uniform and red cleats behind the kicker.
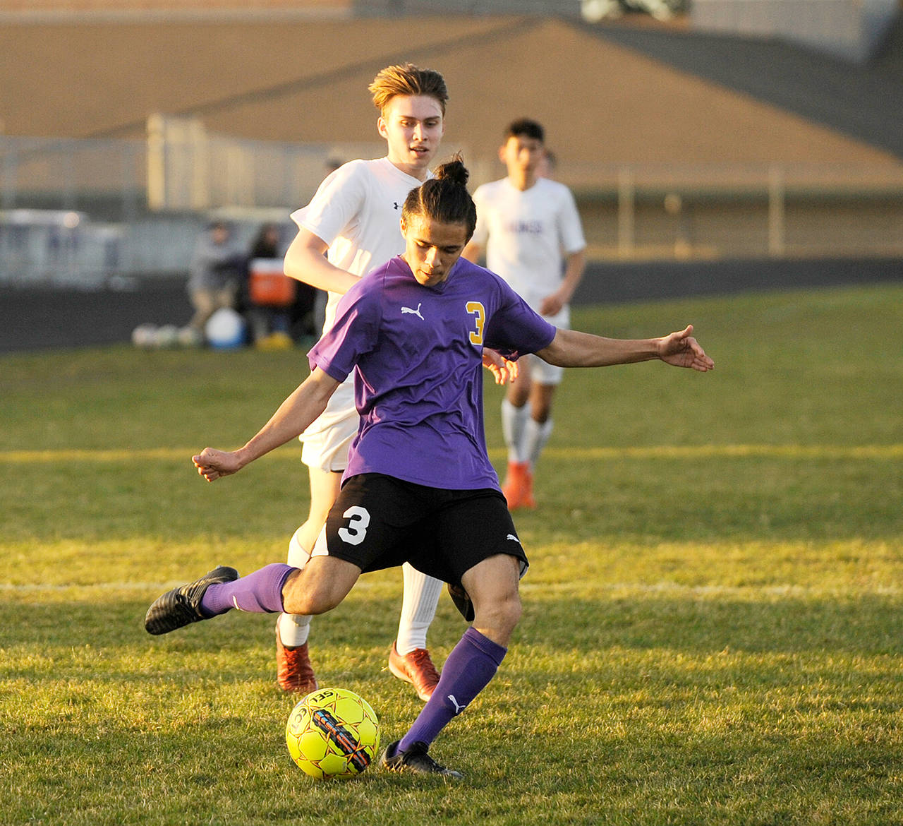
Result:
M386 157L343 164L321 183L312 201L293 212L298 234L285 254L285 274L329 293L324 329L335 306L358 278L405 249L399 229L407 193L430 177L429 165L442 141L448 91L442 75L410 63L388 66L370 84L379 109L377 130ZM496 358L497 380L509 372ZM323 415L302 436L311 508L289 543L288 562L303 565L340 490L351 441L358 433L353 380L330 399ZM389 669L429 699L439 681L426 648L442 583L404 566L405 596ZM308 652L311 617L280 615L276 623L276 671L280 686L306 693L317 687Z

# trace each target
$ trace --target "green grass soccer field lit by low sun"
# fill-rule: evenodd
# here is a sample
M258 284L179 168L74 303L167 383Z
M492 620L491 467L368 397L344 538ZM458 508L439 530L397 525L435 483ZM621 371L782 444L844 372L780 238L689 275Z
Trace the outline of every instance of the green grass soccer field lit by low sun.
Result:
M273 618L144 633L163 589L284 558L298 450L204 484L302 352L0 359L0 822L903 822L903 286L581 309L619 337L686 322L707 375L572 371L516 521L532 568L507 660L433 746L458 784L291 762ZM488 440L504 462L498 390ZM321 682L400 737L400 574L317 618ZM443 596L441 664L463 631Z

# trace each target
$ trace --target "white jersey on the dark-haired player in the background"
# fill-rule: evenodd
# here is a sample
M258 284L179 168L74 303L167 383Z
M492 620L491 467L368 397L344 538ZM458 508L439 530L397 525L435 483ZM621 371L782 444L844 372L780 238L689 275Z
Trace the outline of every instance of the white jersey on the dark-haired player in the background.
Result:
M502 178L479 186L473 200L473 240L486 250L487 268L535 309L561 286L563 255L586 246L571 190L539 178L521 192Z

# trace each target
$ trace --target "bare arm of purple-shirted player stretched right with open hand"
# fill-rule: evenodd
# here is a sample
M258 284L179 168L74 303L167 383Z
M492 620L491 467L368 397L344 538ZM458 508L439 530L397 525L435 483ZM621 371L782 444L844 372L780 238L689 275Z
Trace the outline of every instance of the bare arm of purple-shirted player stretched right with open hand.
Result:
M559 367L607 367L661 359L675 367L706 372L715 362L691 335L693 325L662 338L614 339L579 330L557 330L552 343L536 353Z

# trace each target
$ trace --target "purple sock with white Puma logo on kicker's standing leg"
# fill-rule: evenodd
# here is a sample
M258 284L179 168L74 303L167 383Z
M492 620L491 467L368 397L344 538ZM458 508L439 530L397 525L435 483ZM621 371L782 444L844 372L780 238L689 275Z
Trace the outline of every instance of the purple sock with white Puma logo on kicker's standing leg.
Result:
M442 728L486 687L506 653L504 646L493 643L476 628L468 628L442 666L433 696L402 737L398 750L405 751L418 741L429 746Z

